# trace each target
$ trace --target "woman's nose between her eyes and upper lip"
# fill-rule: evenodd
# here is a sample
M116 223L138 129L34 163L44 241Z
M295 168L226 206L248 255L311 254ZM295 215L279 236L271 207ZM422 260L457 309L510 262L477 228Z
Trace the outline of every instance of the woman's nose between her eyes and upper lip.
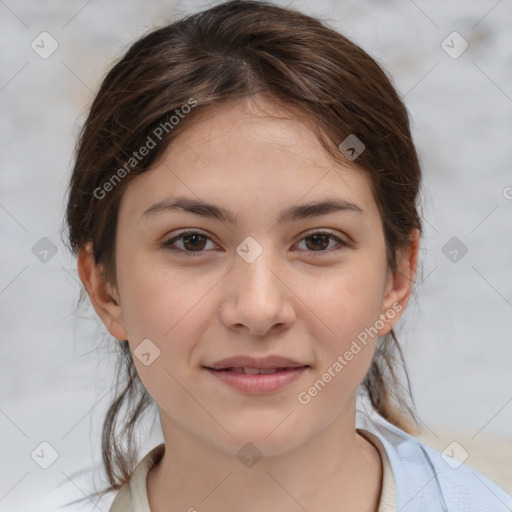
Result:
M223 324L228 329L257 336L289 328L295 318L294 293L283 269L284 263L270 249L251 263L236 255L223 286Z

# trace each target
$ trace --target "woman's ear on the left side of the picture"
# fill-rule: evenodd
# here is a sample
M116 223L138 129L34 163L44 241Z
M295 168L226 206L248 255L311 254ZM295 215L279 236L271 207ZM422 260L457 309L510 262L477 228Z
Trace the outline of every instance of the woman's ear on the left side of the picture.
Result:
M119 340L127 340L121 301L114 287L108 283L103 267L96 265L92 242L78 251L78 274L91 299L94 310L101 318L110 334Z

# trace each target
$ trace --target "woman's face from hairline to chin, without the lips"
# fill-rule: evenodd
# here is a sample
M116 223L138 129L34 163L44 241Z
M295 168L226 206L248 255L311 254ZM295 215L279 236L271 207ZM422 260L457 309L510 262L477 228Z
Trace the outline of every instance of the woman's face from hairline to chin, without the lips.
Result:
M165 207L177 198L232 218ZM327 200L339 207L297 209ZM217 107L130 183L116 266L119 306L103 318L129 340L163 428L232 453L248 440L281 453L346 421L377 336L408 297L409 279L388 269L367 175L261 98ZM308 367L255 393L204 368L240 355Z

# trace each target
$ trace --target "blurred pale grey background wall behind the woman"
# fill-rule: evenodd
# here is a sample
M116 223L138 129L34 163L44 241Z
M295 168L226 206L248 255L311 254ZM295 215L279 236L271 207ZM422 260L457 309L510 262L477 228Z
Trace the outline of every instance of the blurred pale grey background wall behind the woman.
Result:
M89 492L93 469L106 483L114 359L92 308L75 315L60 236L72 151L111 63L213 3L0 0L1 512L56 510ZM512 492L512 2L275 3L361 45L406 102L425 174L422 274L399 332L417 412L432 444L457 440Z

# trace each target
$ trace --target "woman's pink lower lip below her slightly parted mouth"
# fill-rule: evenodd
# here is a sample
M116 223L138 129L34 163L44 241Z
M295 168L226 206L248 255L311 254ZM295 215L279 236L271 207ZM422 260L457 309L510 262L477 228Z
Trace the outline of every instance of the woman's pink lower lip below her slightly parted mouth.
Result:
M213 375L229 386L252 395L273 393L295 382L309 367L290 368L275 373L256 374L235 373L226 371L211 370L205 368L210 375Z

